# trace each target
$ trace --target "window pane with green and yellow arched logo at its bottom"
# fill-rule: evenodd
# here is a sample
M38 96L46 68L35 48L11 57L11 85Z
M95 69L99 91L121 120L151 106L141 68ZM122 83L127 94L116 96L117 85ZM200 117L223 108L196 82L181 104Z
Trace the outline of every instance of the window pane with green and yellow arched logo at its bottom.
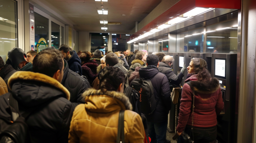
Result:
M42 51L49 45L49 19L35 12L35 51Z

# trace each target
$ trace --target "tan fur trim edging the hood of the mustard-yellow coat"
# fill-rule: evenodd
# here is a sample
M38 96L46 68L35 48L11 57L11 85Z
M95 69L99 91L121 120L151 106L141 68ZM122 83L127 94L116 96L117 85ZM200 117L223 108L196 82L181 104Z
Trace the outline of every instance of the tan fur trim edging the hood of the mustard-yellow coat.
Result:
M86 96L92 96L92 95L108 95L110 97L117 98L124 104L124 106L126 107L126 110L132 110L132 104L130 103L129 98L126 97L126 95L121 92L116 92L116 91L101 92L101 90L95 90L94 88L89 88L82 94L83 98L85 98Z

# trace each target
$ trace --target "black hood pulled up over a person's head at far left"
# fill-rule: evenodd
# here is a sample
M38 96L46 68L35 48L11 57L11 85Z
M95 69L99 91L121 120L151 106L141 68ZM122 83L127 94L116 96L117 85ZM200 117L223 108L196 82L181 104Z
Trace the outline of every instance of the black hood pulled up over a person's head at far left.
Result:
M19 64L27 61L27 54L20 48L13 48L8 52L6 64L12 65L15 70L19 70Z

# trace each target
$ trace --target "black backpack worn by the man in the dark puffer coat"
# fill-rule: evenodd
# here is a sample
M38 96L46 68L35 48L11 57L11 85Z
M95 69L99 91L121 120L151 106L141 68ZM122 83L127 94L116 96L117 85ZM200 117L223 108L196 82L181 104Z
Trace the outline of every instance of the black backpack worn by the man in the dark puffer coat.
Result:
M141 113L152 114L159 100L155 100L154 88L150 79L137 78L131 83L131 87L139 92Z

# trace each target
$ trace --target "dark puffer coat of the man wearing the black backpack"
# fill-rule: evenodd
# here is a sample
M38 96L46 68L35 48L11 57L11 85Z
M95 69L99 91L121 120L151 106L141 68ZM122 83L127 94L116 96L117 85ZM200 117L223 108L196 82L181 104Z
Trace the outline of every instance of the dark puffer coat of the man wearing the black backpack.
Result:
M169 110L171 109L171 91L166 75L158 71L156 66L149 65L147 68L140 68L139 75L142 78L148 78L154 87L155 99L158 102L155 111L147 115L149 122L162 122L167 120Z

